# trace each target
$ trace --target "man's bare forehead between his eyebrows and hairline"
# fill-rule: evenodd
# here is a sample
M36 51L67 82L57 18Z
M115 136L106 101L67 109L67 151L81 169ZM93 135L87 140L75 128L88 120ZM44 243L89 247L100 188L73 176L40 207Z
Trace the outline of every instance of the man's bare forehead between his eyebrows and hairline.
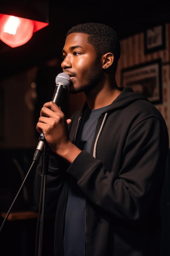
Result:
M66 37L64 50L65 49L73 49L73 47L81 47L84 50L92 50L94 51L93 45L88 43L88 34L84 33L71 33Z

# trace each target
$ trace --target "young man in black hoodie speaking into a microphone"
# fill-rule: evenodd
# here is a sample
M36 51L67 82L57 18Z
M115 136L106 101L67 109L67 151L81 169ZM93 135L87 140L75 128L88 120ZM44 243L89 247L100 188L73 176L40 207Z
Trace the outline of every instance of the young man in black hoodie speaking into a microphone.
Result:
M86 103L66 120L47 102L37 124L51 149L45 211L56 215L55 256L158 256L166 123L142 94L119 90L120 44L112 28L77 25L62 52L68 91L84 92Z

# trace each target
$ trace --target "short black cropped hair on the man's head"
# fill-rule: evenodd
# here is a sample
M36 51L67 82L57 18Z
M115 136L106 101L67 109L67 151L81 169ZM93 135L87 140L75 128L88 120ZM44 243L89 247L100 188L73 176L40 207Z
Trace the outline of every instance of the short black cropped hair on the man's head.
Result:
M88 43L93 45L98 56L112 52L114 63L117 66L120 57L120 42L117 32L113 28L102 23L89 22L75 25L68 30L66 36L71 33L88 34Z

